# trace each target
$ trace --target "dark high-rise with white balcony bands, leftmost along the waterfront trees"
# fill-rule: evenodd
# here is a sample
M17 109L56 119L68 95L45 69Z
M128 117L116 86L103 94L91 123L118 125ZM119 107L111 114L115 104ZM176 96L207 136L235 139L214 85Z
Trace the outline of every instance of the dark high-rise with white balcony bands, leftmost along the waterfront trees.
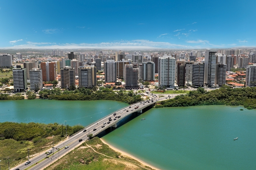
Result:
M12 69L13 89L14 92L23 92L27 89L26 69L21 66Z

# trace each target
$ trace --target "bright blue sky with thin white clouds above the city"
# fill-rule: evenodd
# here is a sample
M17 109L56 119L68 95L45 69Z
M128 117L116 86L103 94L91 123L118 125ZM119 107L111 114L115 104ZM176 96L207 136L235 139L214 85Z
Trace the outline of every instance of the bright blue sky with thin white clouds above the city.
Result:
M256 46L256 0L2 0L0 48Z

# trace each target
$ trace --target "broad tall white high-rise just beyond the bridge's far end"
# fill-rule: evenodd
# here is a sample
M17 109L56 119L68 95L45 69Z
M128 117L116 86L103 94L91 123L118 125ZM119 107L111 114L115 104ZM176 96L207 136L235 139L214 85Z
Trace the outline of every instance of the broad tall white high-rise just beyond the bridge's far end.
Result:
M175 58L164 55L159 58L159 86L174 87Z

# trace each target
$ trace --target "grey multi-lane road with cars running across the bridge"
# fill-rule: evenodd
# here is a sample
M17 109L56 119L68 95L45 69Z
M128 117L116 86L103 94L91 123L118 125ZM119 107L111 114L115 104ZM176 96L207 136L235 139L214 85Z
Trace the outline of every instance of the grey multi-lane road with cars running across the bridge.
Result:
M26 169L27 167L29 167L31 165L34 165L34 166L31 167L29 170L41 170L41 169L43 169L44 167L51 164L53 161L56 161L58 158L61 158L66 153L73 150L75 147L78 147L80 144L82 144L82 142L88 140L87 135L89 133L90 134L92 133L93 136L95 136L98 133L102 132L103 130L106 130L107 128L115 125L116 123L118 123L118 121L121 121L123 118L132 114L133 112L137 112L141 109L144 109L145 107L148 107L151 104L156 103L156 99L158 99L158 97L152 96L152 95L150 96L150 98L154 99L154 101L152 102L152 100L150 100L149 103L146 102L146 101L142 101L142 102L138 102L136 104L129 105L127 107L124 107L122 109L119 109L118 111L115 111L115 112L111 113L110 115L105 116L104 118L101 118L97 122L94 122L94 123L90 124L89 126L85 127L81 131L79 131L77 134L75 134L75 135L69 137L68 139L66 139L65 141L62 141L61 143L55 145L54 146L55 147L54 148L54 155L52 153L52 154L49 155L48 158L46 158L46 154L45 154L45 152L43 152L40 155L35 156L34 158L30 159L30 161L31 161L30 164L25 165L26 162L24 162L23 164L15 167L15 168L12 168L11 170L15 170L16 168L19 168L20 170L24 170L24 169ZM167 100L166 98L167 98L167 96L159 98L159 101ZM135 106L138 106L138 109L135 109ZM114 118L115 118L115 116L113 115L114 113L116 113L115 116L120 116L120 118L116 118L116 120L114 120ZM110 123L108 124L110 117L111 117L112 121L110 121ZM106 122L106 124L103 124L104 122ZM102 127L103 125L105 127ZM94 130L94 129L96 129L96 130ZM83 130L86 130L86 132L83 132ZM79 142L79 139L82 139L82 141ZM69 146L69 148L64 149L65 146ZM58 148L60 150L58 151L56 148ZM53 150L53 149L51 149L51 150ZM49 150L47 150L47 152L48 151ZM44 159L44 158L46 158L46 159ZM36 164L38 161L41 161L41 162Z

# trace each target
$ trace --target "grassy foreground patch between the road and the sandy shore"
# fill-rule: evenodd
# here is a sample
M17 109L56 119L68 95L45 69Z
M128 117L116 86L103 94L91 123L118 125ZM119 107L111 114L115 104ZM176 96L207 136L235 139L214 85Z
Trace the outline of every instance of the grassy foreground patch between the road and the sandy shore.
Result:
M94 152L86 143L91 146ZM94 137L83 143L81 147L71 151L63 158L46 168L46 170L147 170L138 161L122 156L108 145L103 144L100 138ZM113 158L109 158L111 156ZM150 169L152 170L152 169Z

